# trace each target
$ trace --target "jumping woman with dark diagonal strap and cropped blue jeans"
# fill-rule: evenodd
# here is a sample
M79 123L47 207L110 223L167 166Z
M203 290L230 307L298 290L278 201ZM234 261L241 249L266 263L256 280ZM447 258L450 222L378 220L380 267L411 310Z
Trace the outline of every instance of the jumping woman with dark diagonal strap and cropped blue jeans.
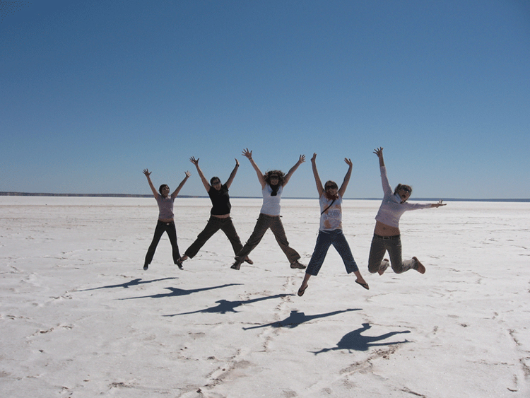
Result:
M346 240L342 232L342 198L348 182L350 182L351 169L353 163L351 159L345 158L344 161L348 165L348 172L344 176L341 188L338 189L336 182L327 181L324 187L320 181L319 173L317 170L317 153L313 153L311 158L311 164L313 168L314 181L317 183L317 191L319 192L320 201L320 228L319 235L317 238L317 244L314 246L313 255L311 256L310 263L307 264L305 270L305 277L302 281L302 285L298 289L298 295L302 296L307 288L307 281L311 276L317 276L319 274L322 263L326 258L329 246L333 245L341 255L346 272L351 274L352 272L357 276L355 282L359 283L365 289L369 289L368 283L363 279L359 272L359 268L353 259L351 254L350 245Z

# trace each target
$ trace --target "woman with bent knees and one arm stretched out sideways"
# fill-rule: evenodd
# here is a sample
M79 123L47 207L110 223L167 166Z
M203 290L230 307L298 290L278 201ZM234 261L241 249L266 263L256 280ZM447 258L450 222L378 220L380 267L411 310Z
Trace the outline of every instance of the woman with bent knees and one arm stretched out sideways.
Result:
M370 247L368 271L372 274L377 272L382 275L391 264L396 274L401 274L409 269L416 269L420 274L425 274L425 267L416 257L405 261L401 258L399 218L405 211L430 209L445 206L445 204L442 204L442 201L435 204L408 203L407 200L412 193L412 188L408 185L398 184L392 192L388 182L387 168L384 167L383 148L375 149L374 153L379 158L384 197L377 216L375 216L375 230ZM390 263L388 259L383 259L387 251L389 252Z

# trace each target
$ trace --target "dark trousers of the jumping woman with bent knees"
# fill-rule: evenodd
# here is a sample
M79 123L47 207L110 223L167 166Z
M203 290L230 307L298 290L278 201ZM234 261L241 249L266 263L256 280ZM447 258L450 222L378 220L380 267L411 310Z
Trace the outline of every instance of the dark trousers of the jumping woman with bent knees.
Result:
M372 247L370 247L370 258L368 259L368 271L372 274L379 271L382 265L384 253L388 251L390 264L396 274L401 274L416 266L413 259L403 261L401 259L401 238L399 235L382 238L374 235Z

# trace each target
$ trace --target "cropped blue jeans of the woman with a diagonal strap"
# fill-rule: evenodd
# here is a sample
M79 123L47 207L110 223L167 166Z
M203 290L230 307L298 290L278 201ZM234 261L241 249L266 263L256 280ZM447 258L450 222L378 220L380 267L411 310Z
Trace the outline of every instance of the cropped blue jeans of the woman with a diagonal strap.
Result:
M346 236L342 233L342 230L319 230L319 236L317 238L317 244L314 245L313 255L311 256L310 263L307 265L306 274L317 276L329 247L333 245L338 254L341 255L346 272L351 274L352 272L359 271L353 254L351 254L350 245L346 240Z

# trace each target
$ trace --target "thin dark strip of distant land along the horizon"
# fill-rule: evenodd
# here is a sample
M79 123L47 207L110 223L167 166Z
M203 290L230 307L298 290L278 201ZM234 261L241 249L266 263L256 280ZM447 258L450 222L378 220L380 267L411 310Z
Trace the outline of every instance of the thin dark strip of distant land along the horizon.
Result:
M34 192L0 192L0 197L95 197L95 198L151 198L153 194L50 194ZM180 198L208 198L206 196L179 195ZM261 197L232 197L234 199L261 199ZM315 199L314 197L283 197L283 199ZM344 200L381 200L381 198L344 198ZM413 198L413 201L438 201L438 198ZM530 199L461 199L444 201L516 201L530 202Z

